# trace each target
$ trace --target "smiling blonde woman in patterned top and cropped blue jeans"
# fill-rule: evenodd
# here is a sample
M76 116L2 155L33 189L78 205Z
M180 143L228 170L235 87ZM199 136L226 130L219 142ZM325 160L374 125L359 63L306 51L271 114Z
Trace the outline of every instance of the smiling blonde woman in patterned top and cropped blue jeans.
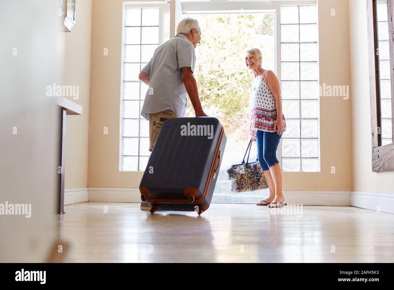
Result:
M279 140L286 131L286 120L282 114L281 87L275 73L263 69L260 49L246 51L246 66L253 71L250 92L251 128L253 140L257 142L258 162L269 187L269 197L257 203L270 208L286 205L282 193L282 171L276 156ZM282 118L277 118L277 116Z

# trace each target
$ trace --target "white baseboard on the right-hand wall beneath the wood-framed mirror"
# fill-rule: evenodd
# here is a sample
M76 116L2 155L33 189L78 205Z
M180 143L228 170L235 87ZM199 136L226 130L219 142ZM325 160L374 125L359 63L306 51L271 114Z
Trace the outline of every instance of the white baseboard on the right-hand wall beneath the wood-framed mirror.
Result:
M394 194L352 191L351 206L394 213Z

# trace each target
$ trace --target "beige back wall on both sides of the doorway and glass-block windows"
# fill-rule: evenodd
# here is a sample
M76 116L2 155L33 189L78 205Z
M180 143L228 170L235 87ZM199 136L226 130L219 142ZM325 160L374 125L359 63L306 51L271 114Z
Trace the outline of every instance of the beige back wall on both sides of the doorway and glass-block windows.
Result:
M142 172L119 172L122 2L93 2L88 187L137 188L142 177ZM320 84L349 85L348 0L319 1L318 9ZM350 98L320 100L321 172L284 172L284 190L351 190Z

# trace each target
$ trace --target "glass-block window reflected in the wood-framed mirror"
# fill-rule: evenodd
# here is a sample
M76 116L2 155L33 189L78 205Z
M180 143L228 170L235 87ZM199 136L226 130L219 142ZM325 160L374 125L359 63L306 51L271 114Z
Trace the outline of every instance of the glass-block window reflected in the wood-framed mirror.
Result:
M387 1L376 2L377 44L380 81L381 145L392 143L390 51L388 49Z

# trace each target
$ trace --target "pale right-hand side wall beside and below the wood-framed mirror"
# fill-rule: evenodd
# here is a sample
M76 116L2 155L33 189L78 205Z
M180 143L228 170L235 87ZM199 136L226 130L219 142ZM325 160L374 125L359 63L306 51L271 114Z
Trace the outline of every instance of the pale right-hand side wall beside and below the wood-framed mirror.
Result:
M362 2L362 3L361 3ZM349 1L351 55L353 190L394 193L394 171L372 172L371 113L365 1Z

